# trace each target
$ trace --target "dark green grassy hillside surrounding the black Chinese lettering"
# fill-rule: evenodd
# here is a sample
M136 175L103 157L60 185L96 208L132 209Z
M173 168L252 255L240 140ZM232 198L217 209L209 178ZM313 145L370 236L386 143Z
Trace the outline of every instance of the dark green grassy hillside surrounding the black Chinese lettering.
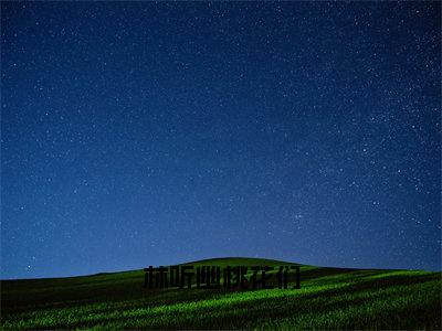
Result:
M225 258L193 266L281 266ZM441 329L441 273L301 267L301 289L143 288L144 271L1 281L15 329Z

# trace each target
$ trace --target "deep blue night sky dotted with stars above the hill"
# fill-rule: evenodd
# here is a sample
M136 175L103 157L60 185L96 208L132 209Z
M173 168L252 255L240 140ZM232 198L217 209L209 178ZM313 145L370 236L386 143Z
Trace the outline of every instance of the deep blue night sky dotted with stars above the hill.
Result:
M440 2L1 2L1 277L441 269Z

